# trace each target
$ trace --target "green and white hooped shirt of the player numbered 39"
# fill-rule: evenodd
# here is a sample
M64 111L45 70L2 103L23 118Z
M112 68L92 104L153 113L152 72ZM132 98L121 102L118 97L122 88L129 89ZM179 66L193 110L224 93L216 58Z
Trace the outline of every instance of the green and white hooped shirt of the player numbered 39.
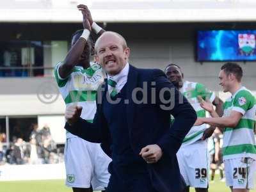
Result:
M193 108L195 109L196 115L198 117L206 116L206 111L200 106L200 100L198 100L198 96L202 97L202 99L204 100L209 99L211 102L213 102L213 100L215 99L215 94L207 90L204 84L201 83L185 81L182 88L180 89L180 92L183 93L186 99L188 99L191 106L193 106ZM200 126L193 126L184 138L182 146L189 145L191 143L195 143L195 141L200 140L207 127L208 125L206 124Z

